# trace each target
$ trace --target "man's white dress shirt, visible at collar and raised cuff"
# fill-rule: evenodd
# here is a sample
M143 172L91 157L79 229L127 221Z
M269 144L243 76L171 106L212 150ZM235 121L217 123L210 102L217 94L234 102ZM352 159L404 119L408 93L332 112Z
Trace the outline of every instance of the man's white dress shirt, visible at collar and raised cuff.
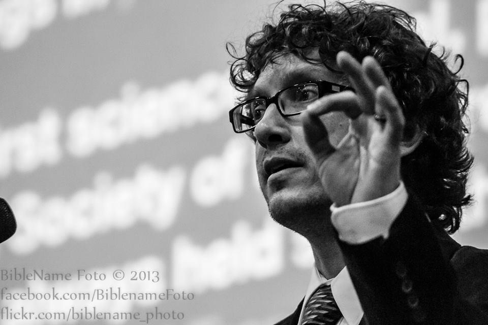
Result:
M332 224L339 238L349 244L361 244L379 236L387 238L391 224L402 211L407 199L407 190L401 182L393 192L384 197L339 208L332 205L330 207ZM358 325L363 311L347 268L342 269L335 278L326 279L315 266L298 324L301 323L307 301L322 283L330 284L332 295L343 315L338 325Z

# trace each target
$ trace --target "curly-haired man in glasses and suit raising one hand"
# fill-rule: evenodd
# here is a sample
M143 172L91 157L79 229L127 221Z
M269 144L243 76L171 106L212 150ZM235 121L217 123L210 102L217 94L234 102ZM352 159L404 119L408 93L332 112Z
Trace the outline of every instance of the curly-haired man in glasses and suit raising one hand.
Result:
M233 53L234 131L255 142L272 218L315 257L278 324L488 324L488 252L448 236L471 200L467 94L414 24L384 5L292 5Z

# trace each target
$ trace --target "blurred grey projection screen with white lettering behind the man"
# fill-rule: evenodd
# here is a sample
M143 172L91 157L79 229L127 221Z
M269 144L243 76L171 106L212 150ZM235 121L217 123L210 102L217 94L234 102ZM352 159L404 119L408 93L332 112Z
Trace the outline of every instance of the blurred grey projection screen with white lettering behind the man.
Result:
M488 0L386 3L417 17L427 40L465 57L476 203L455 238L488 248ZM95 308L140 312L145 323L253 325L294 310L308 284L310 247L270 220L252 143L232 132L227 114L236 92L225 43L241 48L274 7L0 1L0 196L18 223L0 245L0 287L75 294L4 297L0 307L50 319L4 315L0 323L56 324L70 310L70 324L93 323L84 318ZM16 275L34 271L43 279ZM169 297L123 300L110 288ZM77 295L85 292L100 299ZM161 320L156 312L183 316Z

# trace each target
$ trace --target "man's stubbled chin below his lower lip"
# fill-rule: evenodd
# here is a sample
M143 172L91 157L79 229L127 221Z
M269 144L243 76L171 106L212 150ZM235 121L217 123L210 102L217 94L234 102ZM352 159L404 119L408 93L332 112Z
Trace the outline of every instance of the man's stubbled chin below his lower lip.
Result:
M268 200L271 218L304 237L330 225L330 205L325 196L313 193L275 193Z

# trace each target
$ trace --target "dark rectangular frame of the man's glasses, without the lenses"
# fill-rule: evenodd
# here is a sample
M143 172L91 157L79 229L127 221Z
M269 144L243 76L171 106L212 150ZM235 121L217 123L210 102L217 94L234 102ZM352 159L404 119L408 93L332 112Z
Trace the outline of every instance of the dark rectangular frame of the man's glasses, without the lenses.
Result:
M283 93L284 91L286 91L288 89L291 89L293 87L307 85L307 84L316 84L318 86L318 92L319 92L318 98L321 98L322 96L324 96L326 94L337 93L337 92L341 92L341 91L348 90L348 89L349 90L352 90L351 87L345 86L345 85L341 85L341 84L338 84L338 83L333 83L333 82L325 81L325 80L314 80L314 81L300 82L300 83L297 83L296 85L293 85L293 86L290 86L290 87L286 87L284 89L281 89L274 96L271 96L271 97L258 96L258 97L249 99L247 101L244 101L242 103L237 104L236 106L234 106L229 111L229 120L230 120L230 123L232 124L232 128L234 129L234 132L235 133L245 133L245 132L249 132L249 131L253 130L256 127L257 123L256 123L256 125L253 125L250 128L248 128L248 129L238 130L236 128L235 124L234 124L234 112L240 106L249 104L249 103L251 103L253 101L256 101L256 100L264 100L265 101L265 104L266 104L266 109L269 107L269 105L275 104L276 107L278 108L278 112L280 112L281 116L283 116L283 117L293 116L293 115L300 114L303 111L295 112L295 113L289 113L289 114L285 113L283 111L283 109L280 107L279 103L278 103L278 97L280 96L281 93ZM337 88L337 89L334 89L334 88Z

